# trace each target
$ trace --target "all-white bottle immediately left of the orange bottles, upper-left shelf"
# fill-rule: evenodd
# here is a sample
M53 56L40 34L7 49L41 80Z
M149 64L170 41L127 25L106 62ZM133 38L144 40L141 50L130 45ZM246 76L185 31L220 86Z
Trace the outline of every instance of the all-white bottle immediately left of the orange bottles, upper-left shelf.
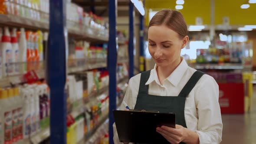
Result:
M19 39L19 62L20 64L20 73L26 72L26 49L27 49L27 41L25 29L20 29L20 39Z

